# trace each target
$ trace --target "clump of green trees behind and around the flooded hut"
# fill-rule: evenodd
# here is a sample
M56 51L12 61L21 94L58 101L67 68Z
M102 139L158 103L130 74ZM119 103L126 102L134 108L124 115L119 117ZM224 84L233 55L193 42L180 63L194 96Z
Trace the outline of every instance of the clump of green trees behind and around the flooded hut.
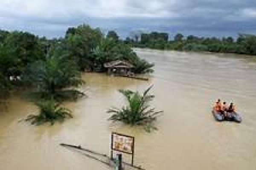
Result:
M130 45L119 41L118 38L115 31L109 31L104 37L99 28L81 25L77 28L68 28L66 37L51 45L51 49L62 51L62 54L76 61L81 71L105 72L105 62L125 60L135 65L138 74L152 72L154 65L141 60Z

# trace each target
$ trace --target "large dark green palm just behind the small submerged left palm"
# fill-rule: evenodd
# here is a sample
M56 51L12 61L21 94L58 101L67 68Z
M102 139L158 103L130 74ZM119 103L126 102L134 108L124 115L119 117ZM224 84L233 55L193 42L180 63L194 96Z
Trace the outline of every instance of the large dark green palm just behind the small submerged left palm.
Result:
M23 79L37 87L34 93L41 99L54 97L57 100L76 99L84 95L82 92L70 89L84 83L75 61L65 56L47 57L45 61L37 61L30 65Z

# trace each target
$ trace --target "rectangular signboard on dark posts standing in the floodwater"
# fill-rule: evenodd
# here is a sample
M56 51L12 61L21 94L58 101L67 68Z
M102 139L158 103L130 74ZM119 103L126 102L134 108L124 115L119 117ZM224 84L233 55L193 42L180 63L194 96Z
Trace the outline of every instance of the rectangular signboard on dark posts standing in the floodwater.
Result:
M120 133L111 134L111 158L113 158L113 150L132 155L131 164L134 160L134 137Z

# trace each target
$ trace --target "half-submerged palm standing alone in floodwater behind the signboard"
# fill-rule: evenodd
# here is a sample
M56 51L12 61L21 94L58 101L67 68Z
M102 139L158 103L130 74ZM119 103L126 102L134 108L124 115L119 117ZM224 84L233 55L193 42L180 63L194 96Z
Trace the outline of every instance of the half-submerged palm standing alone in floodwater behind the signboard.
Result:
M140 95L138 91L130 90L119 90L128 101L127 106L119 108L110 108L108 113L113 113L109 120L113 122L120 121L128 125L143 125L145 130L150 131L151 128L156 129L152 126L152 122L157 119L163 111L154 111L155 108L150 108L148 102L150 102L154 95L149 95L148 92L152 86L149 87L143 95Z

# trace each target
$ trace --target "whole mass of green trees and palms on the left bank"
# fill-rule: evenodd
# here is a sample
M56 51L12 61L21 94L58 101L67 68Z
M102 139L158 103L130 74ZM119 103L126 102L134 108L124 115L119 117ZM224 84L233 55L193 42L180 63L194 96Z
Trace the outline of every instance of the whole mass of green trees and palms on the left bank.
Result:
M59 106L84 93L75 88L84 83L82 71L105 72L105 62L125 60L134 73L152 72L151 63L140 59L114 31L104 35L99 28L80 25L68 28L65 37L47 39L22 31L0 30L0 103L10 91L26 89L39 107L32 123L64 119L70 112Z

